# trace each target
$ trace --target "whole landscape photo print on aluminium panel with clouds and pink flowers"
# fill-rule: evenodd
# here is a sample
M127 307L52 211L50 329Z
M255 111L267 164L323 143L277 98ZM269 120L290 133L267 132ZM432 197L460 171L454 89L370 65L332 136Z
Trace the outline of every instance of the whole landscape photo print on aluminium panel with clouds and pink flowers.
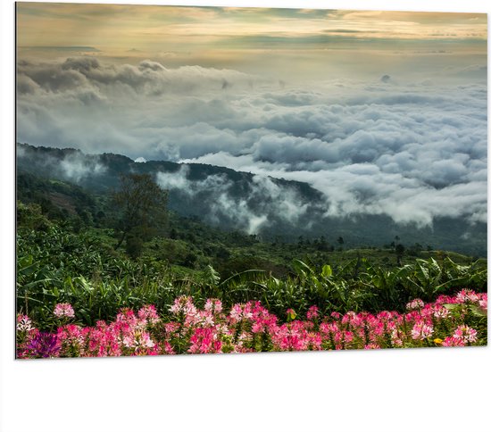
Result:
M487 15L16 5L18 359L487 345Z

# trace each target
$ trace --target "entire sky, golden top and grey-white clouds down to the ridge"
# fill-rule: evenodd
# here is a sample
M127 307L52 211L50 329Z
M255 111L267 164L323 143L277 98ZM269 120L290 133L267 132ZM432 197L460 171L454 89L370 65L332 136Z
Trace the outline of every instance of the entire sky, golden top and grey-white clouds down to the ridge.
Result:
M17 4L17 140L487 220L487 15Z

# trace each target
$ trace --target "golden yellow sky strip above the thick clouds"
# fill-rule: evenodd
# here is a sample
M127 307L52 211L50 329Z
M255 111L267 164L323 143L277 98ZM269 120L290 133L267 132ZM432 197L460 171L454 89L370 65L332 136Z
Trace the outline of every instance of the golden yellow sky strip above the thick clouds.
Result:
M107 55L486 39L487 15L476 13L17 4L19 47L90 47Z

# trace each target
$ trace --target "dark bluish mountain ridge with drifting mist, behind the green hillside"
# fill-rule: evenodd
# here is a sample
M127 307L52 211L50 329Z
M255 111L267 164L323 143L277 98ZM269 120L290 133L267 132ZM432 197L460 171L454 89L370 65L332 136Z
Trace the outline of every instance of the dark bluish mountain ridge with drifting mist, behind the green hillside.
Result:
M462 218L439 218L432 227L398 225L385 215L326 216L329 203L320 191L295 180L262 177L203 163L135 162L122 154L84 154L78 149L17 144L17 170L71 181L98 194L108 194L121 174L150 173L169 190L169 207L226 230L238 229L265 239L295 242L324 236L346 245L401 243L487 255L487 224Z

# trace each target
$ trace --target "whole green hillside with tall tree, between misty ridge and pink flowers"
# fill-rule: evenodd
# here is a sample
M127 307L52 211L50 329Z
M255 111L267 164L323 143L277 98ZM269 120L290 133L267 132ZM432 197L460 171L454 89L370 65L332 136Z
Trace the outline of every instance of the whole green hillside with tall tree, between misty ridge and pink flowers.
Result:
M287 244L207 227L167 213L166 194L149 176L124 180L115 195L117 211L107 196L60 181L22 181L17 311L43 323L42 329L54 326L56 303L71 303L86 325L146 303L165 314L179 295L192 295L200 306L211 297L226 306L259 300L286 320L288 309L304 316L312 305L323 313L401 311L416 297L431 302L462 287L487 288L486 260L458 253L420 245L399 253L396 246L336 251L322 236ZM66 219L59 218L63 209ZM167 230L170 237L164 237ZM124 252L118 248L122 235ZM342 238L337 244L345 247ZM398 265L403 254L404 265Z

